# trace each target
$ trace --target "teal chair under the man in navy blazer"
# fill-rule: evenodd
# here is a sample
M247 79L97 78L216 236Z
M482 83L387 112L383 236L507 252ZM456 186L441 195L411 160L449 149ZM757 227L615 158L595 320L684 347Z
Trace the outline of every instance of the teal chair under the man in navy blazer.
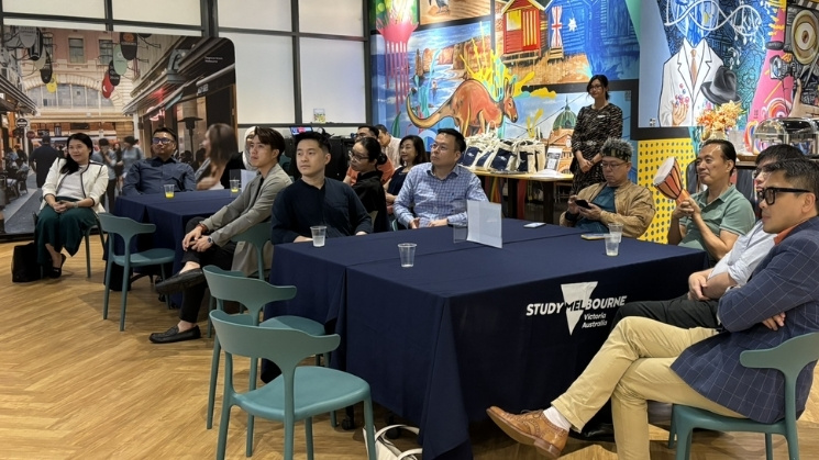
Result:
M773 424L763 424L748 418L726 417L701 408L673 406L668 448L674 448L675 435L682 445L677 447L676 460L686 460L691 450L691 429L705 428L718 431L751 431L765 434L767 460L773 460L772 434L783 435L788 442L788 458L799 459L799 436L796 430L796 378L805 367L819 359L819 333L805 334L784 341L767 350L746 350L740 362L746 368L776 369L785 375L785 418Z

